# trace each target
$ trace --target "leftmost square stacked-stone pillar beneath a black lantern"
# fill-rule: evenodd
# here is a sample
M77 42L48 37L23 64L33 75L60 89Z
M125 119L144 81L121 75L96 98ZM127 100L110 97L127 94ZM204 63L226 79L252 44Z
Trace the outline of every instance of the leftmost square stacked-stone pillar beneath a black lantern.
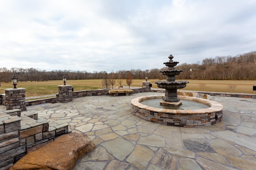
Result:
M6 110L20 109L22 111L26 108L26 88L7 88L5 91Z

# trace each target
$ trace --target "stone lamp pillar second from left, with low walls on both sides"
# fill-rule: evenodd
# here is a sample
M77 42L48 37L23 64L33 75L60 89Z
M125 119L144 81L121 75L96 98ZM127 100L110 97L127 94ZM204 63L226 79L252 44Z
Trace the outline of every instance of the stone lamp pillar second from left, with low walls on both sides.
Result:
M57 102L70 102L72 101L72 85L59 85L58 86L59 93L56 94Z

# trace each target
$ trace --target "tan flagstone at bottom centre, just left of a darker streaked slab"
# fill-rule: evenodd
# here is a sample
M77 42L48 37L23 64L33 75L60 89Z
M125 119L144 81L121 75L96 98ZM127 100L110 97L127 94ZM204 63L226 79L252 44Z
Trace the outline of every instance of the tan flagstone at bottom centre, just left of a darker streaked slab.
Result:
M142 145L136 145L134 151L128 156L127 161L140 170L145 170L154 151Z

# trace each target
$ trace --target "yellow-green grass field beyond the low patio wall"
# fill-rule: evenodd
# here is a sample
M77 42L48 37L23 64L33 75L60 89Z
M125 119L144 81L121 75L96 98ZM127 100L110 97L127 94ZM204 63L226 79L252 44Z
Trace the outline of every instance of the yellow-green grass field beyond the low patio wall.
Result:
M71 84L74 91L79 90L96 90L102 88L102 80L67 80L66 84ZM142 81L133 80L131 86L142 87ZM148 80L152 83L152 88L158 88L155 81ZM236 85L234 93L256 94L252 90L252 86L256 86L256 80L186 80L189 81L186 88L182 90L208 91L208 92L229 92L228 85ZM116 80L115 86L118 86ZM204 84L204 90L200 88L200 84ZM48 82L18 82L17 88L26 88L26 97L44 96L48 94L58 93L58 85L63 85L62 80L54 80ZM122 80L122 86L127 86L126 80ZM1 83L0 94L4 94L5 88L13 88L12 83Z

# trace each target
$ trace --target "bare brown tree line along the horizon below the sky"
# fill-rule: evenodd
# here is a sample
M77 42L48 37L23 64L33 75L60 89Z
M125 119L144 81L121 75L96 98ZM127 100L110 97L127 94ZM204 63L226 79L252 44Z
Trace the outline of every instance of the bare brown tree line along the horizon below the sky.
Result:
M175 59L174 59L175 61ZM183 70L176 79L198 79L198 80L256 80L256 51L232 56L216 56L203 59L202 62L193 64L183 63L175 67L177 70ZM166 79L166 76L160 73L161 70L167 70L167 67L152 68L150 70L132 69L119 70L107 73L106 71L74 71L74 70L40 70L38 68L0 68L0 82L10 82L13 74L18 77L19 82L27 81L49 81L62 80L66 75L68 80L85 79L126 79L129 75L132 79Z

